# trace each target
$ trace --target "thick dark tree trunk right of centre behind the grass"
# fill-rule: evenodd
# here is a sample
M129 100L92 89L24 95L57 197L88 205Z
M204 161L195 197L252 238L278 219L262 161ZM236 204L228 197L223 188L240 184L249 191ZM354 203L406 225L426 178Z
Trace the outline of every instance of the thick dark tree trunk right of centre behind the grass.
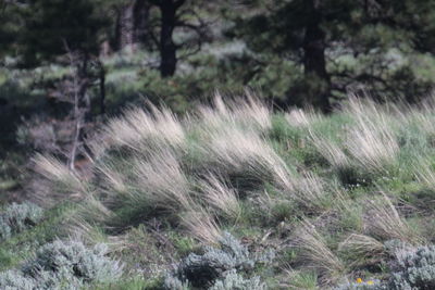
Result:
M325 33L321 28L321 13L315 0L308 0L312 13L306 27L303 39L303 70L307 81L312 81L309 104L324 112L331 111L331 77L326 72Z

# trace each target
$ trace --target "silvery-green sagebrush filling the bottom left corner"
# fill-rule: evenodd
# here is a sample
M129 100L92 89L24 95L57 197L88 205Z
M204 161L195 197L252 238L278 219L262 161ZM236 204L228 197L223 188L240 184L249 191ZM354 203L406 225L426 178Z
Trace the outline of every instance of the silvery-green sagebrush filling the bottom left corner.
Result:
M121 266L107 256L107 247L86 249L80 242L54 241L40 248L22 269L0 275L0 286L11 289L77 289L89 282L111 282ZM3 289L3 288L1 288Z

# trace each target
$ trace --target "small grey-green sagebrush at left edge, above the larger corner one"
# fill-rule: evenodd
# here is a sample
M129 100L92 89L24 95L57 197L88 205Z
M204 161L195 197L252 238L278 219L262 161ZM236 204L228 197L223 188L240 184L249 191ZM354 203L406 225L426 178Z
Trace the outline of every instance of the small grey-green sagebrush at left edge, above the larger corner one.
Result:
M12 203L0 213L0 240L35 226L42 218L42 212L34 203Z

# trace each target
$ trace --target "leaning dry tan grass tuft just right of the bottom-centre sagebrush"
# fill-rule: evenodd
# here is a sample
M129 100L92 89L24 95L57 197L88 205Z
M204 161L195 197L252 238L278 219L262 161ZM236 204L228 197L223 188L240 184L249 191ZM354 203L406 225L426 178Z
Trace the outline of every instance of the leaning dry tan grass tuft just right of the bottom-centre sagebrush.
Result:
M296 245L301 249L301 262L315 268L323 283L335 281L344 272L341 261L327 248L322 236L308 220L301 223Z

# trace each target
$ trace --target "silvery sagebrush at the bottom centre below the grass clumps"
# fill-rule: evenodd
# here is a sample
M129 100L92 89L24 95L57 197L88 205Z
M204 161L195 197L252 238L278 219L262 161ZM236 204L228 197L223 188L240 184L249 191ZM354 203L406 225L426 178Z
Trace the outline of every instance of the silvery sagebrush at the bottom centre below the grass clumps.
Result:
M245 281L241 276L235 277L235 274L232 273L236 273L236 270L249 272L256 266L256 263L266 263L274 256L273 252L266 252L260 256L251 255L248 249L228 232L223 235L219 243L220 248L206 247L203 254L190 253L166 277L164 287L166 289L174 289L174 285L184 286L190 283L194 287L203 288L213 286L220 279L223 279L222 283L217 283L216 287L225 287L232 283L254 285L256 279ZM225 281L225 277L228 275L231 276ZM258 285L260 285L259 281Z

